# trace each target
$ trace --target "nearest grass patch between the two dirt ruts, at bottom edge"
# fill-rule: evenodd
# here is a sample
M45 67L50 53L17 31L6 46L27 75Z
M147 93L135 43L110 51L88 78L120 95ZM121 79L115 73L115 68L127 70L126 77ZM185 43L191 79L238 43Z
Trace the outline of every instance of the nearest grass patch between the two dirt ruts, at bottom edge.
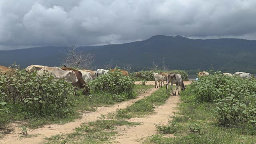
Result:
M63 144L63 143L77 143L77 144L109 144L114 141L116 134L118 134L117 126L135 126L140 125L137 122L127 122L122 119L114 118L114 114L109 114L107 118L105 115L98 117L94 122L83 123L76 131L67 136L58 134L46 138L50 140L48 144Z

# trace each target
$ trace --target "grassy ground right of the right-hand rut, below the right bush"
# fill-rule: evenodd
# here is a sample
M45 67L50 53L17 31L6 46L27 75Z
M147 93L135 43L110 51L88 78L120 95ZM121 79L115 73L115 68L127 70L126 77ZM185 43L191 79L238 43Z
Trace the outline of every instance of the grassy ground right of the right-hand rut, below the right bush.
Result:
M199 103L192 88L187 86L181 94L179 112L168 125L156 124L159 134L148 137L144 144L253 144L256 128L240 124L226 128L218 124L212 112L215 103ZM165 137L173 134L175 138Z

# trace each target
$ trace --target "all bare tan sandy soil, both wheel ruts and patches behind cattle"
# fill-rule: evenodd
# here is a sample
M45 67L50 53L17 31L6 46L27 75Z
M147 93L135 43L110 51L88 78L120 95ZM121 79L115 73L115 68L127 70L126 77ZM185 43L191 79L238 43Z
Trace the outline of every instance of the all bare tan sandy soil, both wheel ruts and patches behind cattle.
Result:
M138 84L140 82L135 82L135 84ZM191 81L184 81L184 85L190 84ZM154 85L153 81L147 82L146 84L152 84ZM52 135L59 134L62 132L63 134L70 134L74 132L74 128L79 127L80 124L83 122L90 122L97 120L97 117L100 116L100 114L108 114L108 112L114 112L117 108L126 108L127 105L133 104L135 101L140 100L146 96L150 96L153 92L158 90L157 88L150 88L146 91L146 93L140 94L138 98L133 100L128 100L126 102L117 103L110 107L100 107L96 112L88 112L83 114L81 119L75 120L74 122L69 122L63 125L58 124L51 124L51 125L45 125L42 126L42 128L38 128L35 130L28 129L28 134L39 134L36 137L32 138L23 138L19 139L20 135L20 128L18 128L18 124L13 124L14 131L11 132L11 134L6 134L4 138L0 139L0 144L40 144L43 142L47 142L45 140L45 137L50 137ZM175 108L177 106L177 103L180 102L179 96L171 96L167 101L166 104L162 106L158 106L155 109L155 113L147 116L145 118L132 118L131 122L141 122L142 125L132 127L132 128L126 128L119 127L120 130L120 136L116 138L116 142L119 142L120 144L128 144L128 143L140 143L138 140L150 136L152 134L156 133L156 128L154 126L155 124L158 124L159 122L162 122L163 124L166 124L168 122L168 118L174 114L176 111ZM170 135L171 136L171 135Z

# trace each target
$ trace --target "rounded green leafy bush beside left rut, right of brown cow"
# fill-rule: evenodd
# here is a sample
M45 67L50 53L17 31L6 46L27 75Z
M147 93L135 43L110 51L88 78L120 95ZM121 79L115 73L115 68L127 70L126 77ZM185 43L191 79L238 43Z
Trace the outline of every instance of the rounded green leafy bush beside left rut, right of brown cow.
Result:
M90 92L111 93L115 98L121 98L120 95L127 96L126 98L133 98L134 78L122 75L120 69L115 68L114 72L108 72L95 78L95 80L88 82ZM120 101L118 100L118 101Z

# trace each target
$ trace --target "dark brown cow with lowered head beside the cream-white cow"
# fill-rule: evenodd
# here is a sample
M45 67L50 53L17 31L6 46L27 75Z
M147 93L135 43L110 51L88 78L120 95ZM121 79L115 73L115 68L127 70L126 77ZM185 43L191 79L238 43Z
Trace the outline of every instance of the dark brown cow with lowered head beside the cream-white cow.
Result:
M74 70L72 68L61 68L62 70ZM84 94L90 94L89 92L89 88L86 86L86 82L84 81L83 77L82 77L82 73L78 70L74 70L75 74L76 74L76 78L78 79L78 82L72 82L73 86L76 86L80 89L85 88L84 89ZM75 93L76 94L76 93Z

